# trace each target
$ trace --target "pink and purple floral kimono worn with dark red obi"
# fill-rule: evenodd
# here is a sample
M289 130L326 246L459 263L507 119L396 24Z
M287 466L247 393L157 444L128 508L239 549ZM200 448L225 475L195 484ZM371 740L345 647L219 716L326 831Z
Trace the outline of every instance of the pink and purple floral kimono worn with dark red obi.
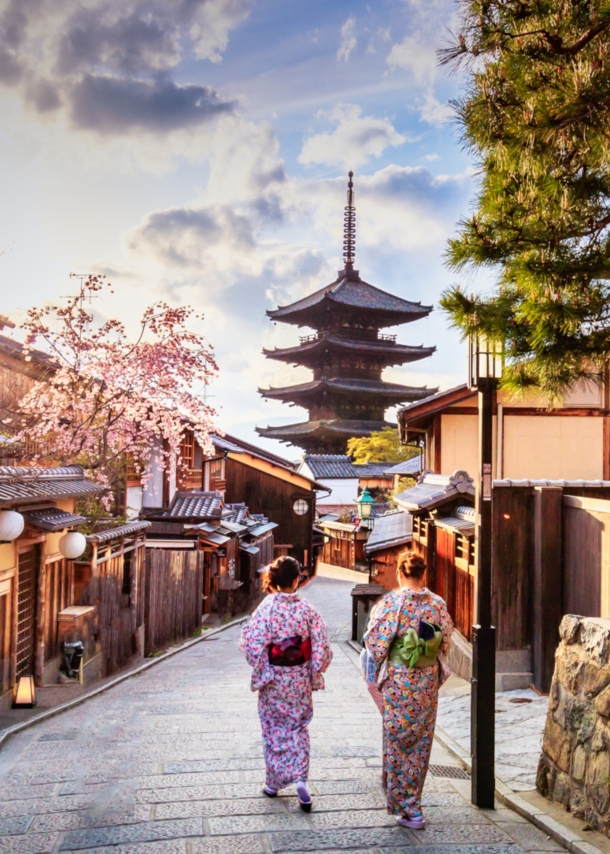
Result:
M309 638L311 659L295 667L270 664L270 647L295 635ZM266 784L277 791L299 780L306 782L311 692L324 688L322 674L332 659L326 624L298 593L271 593L243 627L241 648L252 667L251 688L258 691Z

